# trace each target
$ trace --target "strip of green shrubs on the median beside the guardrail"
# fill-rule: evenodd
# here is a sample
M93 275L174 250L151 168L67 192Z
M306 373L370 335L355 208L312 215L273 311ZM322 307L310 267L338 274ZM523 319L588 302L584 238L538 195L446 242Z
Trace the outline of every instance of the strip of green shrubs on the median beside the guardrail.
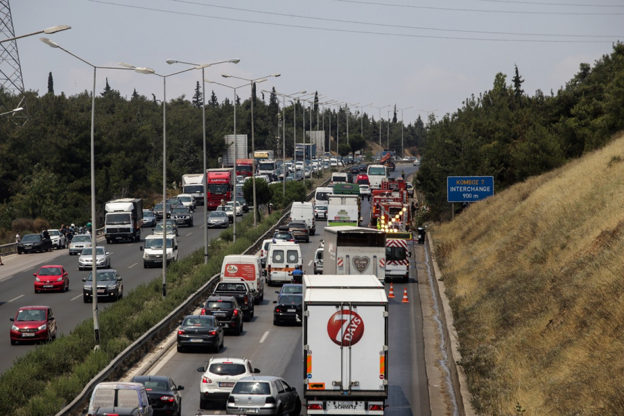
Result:
M211 241L207 264L203 248L172 263L167 268L166 299L158 277L101 311L99 351L93 351L93 320L86 319L68 336L19 357L0 376L0 415L49 416L67 406L115 356L220 272L225 255L241 253L280 217L281 211L274 212L254 228L252 216L245 216L238 223L236 243L223 238Z

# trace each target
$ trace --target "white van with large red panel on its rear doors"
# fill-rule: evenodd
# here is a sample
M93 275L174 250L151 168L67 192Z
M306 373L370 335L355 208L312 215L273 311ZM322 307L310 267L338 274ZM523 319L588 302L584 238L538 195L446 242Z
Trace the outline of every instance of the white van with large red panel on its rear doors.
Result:
M260 257L231 254L223 257L221 281L244 281L254 295L254 304L264 299L264 281Z

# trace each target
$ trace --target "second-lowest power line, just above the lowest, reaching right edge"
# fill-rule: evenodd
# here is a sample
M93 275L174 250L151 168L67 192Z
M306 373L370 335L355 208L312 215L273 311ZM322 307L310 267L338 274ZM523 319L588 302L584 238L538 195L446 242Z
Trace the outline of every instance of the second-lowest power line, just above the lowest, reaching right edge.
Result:
M214 4L207 3L199 3L198 1L190 1L190 0L168 0L173 1L175 3L186 3L193 4L196 6L204 6L211 8L220 8L225 10L236 10L241 12L251 12L251 13L260 13L262 15L271 15L271 16L284 16L284 17L295 17L297 19L311 19L311 20L319 20L319 21L332 21L336 23L347 23L347 24L360 24L360 25L369 25L369 26L382 26L388 28L401 28L401 29L417 29L422 31L440 31L440 32L458 32L458 33L480 33L485 35L516 35L516 36L557 36L557 37L606 37L609 39L614 39L618 37L624 37L623 35L555 35L552 33L514 33L514 32L494 32L494 31L469 31L469 30L460 30L460 29L442 29L442 28L428 28L423 26L401 26L397 24L383 24L383 23L372 23L366 21L355 21L355 20L343 20L343 19L329 19L327 17L313 17L313 16L303 16L303 15L292 15L287 13L279 13L279 12L266 12L263 10L252 10L245 8L236 8L229 6L218 6Z

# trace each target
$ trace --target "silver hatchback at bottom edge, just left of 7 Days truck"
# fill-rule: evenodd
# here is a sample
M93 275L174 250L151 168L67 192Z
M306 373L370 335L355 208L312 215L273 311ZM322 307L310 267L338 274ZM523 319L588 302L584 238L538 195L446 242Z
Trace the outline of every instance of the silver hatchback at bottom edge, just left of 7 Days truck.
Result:
M301 399L281 377L248 376L234 384L226 411L228 415L299 415Z

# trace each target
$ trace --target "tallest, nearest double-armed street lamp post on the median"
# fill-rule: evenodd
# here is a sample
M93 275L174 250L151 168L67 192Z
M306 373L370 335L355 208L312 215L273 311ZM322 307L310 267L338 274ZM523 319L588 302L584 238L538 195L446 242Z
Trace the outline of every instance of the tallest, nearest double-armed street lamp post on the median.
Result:
M67 26L69 28L69 26ZM64 29L62 29L64 30ZM51 32L54 33L54 32ZM96 74L98 69L121 69L128 70L126 68L116 68L116 67L99 67L97 65L92 64L91 62L87 62L83 58L80 58L78 55L74 55L67 49L63 49L56 42L52 42L47 37L40 37L40 40L44 42L44 44L51 46L55 49L60 49L65 53L69 53L69 55L73 56L85 64L89 65L89 67L93 68L93 91L91 94L91 239L92 239L92 269L91 269L91 288L92 288L92 300L93 300L93 329L95 336L95 349L100 348L100 322L99 322L99 313L98 313L98 292L97 292L97 262L96 262L96 251L97 251L97 240L94 235L96 232L96 211L95 211L95 88L96 88ZM153 69L149 68L133 68L136 72L139 73L153 73ZM21 110L21 109L15 109Z

